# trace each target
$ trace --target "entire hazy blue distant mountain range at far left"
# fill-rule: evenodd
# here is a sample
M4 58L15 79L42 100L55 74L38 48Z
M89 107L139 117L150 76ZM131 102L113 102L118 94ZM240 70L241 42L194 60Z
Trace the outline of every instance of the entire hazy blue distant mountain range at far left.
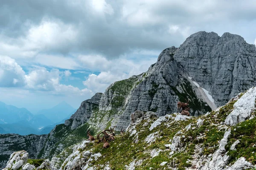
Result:
M0 133L47 134L55 125L64 123L76 109L61 102L53 108L32 114L26 108L17 108L0 102Z

